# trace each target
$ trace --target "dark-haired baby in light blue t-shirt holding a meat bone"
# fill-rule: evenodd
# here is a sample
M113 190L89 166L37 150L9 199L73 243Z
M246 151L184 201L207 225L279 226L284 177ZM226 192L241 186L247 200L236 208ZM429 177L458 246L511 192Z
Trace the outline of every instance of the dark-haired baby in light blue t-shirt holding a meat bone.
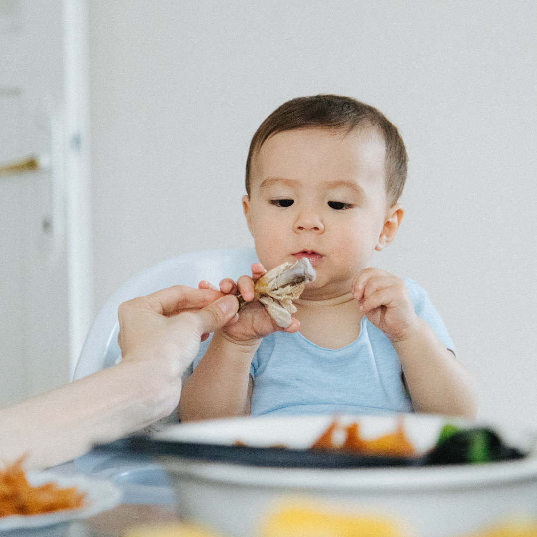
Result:
M397 128L357 100L293 99L263 122L250 145L243 197L260 263L251 278L222 280L220 291L250 302L265 269L302 257L316 278L294 300L288 328L255 301L201 344L179 403L183 421L267 413L475 416L473 384L425 291L368 267L401 224L406 176Z

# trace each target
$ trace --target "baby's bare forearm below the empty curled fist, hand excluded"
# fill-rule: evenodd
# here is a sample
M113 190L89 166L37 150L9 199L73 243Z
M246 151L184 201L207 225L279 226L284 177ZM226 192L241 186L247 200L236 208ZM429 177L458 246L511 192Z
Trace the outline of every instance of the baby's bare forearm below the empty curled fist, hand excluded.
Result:
M392 342L417 412L475 418L477 396L466 368L423 319Z

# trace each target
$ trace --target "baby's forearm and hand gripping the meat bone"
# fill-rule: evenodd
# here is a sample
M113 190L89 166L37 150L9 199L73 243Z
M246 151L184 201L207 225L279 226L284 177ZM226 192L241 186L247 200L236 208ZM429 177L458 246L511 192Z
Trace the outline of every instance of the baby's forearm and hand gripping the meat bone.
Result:
M253 300L253 284L265 273L263 265L252 265L252 278L222 280L220 291L239 292L246 302ZM200 287L207 287L201 282ZM264 336L277 330L296 332L300 323L294 319L288 328L277 326L259 302L241 308L238 317L217 330L207 352L185 383L179 401L183 422L195 419L242 416L250 413L252 378L250 365Z

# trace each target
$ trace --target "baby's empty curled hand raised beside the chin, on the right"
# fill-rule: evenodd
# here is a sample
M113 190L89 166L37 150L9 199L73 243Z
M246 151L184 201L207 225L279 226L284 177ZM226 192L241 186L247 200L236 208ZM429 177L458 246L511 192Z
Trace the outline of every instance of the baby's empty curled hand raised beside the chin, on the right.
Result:
M369 321L392 342L404 339L418 319L407 286L389 272L361 270L352 280L351 293Z

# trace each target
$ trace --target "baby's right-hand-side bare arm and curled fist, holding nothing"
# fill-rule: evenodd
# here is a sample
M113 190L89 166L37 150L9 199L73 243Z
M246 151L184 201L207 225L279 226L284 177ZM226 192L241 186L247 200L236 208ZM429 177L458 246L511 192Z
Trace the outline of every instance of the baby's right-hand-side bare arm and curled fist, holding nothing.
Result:
M394 346L414 410L475 418L477 396L466 368L416 315L403 280L380 269L364 269L354 279L352 293Z

